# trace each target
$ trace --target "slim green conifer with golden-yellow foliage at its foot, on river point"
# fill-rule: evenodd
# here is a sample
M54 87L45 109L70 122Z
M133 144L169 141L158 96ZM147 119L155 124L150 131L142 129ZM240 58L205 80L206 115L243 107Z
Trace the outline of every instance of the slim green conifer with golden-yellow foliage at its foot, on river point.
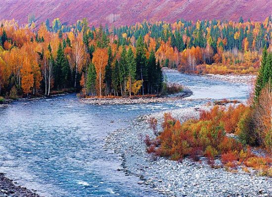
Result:
M132 85L134 84L135 77L136 77L136 62L135 62L134 53L131 47L129 48L127 52L127 64L128 64L128 78L129 78L127 88L131 97Z

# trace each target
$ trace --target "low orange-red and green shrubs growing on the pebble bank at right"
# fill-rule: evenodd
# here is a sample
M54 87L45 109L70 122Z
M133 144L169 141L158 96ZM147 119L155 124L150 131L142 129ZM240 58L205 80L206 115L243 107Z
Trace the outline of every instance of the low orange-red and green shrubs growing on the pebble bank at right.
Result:
M148 138L148 153L173 160L185 157L198 160L205 156L212 166L215 165L213 160L221 157L227 168L243 164L271 175L271 158L256 156L250 147L227 136L227 133L239 132L239 121L248 108L243 104L227 109L215 106L210 111L201 111L199 119L182 124L165 113L163 131L154 140Z

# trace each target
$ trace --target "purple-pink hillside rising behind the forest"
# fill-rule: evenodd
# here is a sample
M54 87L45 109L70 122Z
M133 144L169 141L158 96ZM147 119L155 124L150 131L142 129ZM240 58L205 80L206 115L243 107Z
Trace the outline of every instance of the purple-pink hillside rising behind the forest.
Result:
M23 24L34 14L37 23L60 18L72 24L87 17L91 24L131 25L177 19L238 20L242 16L263 21L272 11L272 0L1 0L0 19Z

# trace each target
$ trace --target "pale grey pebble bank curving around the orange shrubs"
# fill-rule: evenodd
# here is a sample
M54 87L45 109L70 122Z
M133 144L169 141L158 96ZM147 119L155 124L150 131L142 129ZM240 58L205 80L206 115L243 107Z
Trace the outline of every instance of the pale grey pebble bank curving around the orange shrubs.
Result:
M199 109L210 108L211 106L197 106L171 113L173 117L185 121L197 118ZM123 159L117 170L138 176L138 184L148 185L154 193L167 197L272 196L272 178L258 176L254 170L246 173L238 168L233 173L224 168L214 169L207 164L205 158L201 158L201 162L183 159L179 163L166 158L150 157L143 143L146 134L155 137L148 120L150 117L157 118L158 125L161 125L163 114L164 112L138 117L128 128L117 130L105 139L104 149L120 154ZM220 164L218 159L215 162Z

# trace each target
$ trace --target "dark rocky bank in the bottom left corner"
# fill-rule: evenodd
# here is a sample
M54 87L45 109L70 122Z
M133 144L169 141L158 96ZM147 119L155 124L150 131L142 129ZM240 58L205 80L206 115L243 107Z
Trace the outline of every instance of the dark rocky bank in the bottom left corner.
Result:
M36 191L29 191L24 187L16 186L16 182L0 173L0 197L40 197Z

